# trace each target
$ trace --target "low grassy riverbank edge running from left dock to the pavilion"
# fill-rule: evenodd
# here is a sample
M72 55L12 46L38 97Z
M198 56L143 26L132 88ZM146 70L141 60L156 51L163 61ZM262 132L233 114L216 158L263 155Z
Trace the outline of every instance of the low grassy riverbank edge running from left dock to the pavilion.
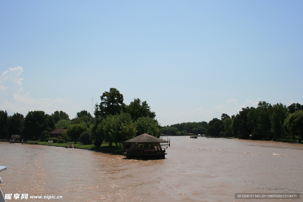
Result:
M35 142L32 142L32 143L35 143ZM73 142L68 142L68 143L38 142L38 144L39 145L47 145L47 146L55 146L55 147L66 147L66 144L70 144L70 146L72 146L72 144L73 144L75 149L87 149L87 150L94 150L94 151L102 151L102 152L108 152L108 153L119 154L119 155L123 155L122 153L124 152L123 148L116 149L114 145L113 145L113 148L109 148L109 143L108 142L103 142L101 147L96 147L94 144L89 144L89 145L87 145L87 144L84 145L82 143L74 144Z

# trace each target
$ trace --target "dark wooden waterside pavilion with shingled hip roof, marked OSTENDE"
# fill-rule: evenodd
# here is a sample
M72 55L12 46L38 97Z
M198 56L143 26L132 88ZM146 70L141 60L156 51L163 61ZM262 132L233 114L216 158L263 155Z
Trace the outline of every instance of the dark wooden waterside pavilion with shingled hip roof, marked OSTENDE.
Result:
M143 159L161 159L165 158L165 148L160 143L168 141L159 139L149 134L142 134L124 143L130 143L130 147L126 149L125 156L127 159L143 158Z

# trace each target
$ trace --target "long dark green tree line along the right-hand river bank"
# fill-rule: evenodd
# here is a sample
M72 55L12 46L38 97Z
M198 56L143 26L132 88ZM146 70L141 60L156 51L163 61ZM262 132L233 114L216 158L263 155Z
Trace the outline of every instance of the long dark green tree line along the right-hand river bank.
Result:
M253 140L282 142L301 141L303 138L303 105L293 103L286 107L281 103L271 105L260 101L258 107L242 108L238 114L222 114L208 123L188 122L161 127L165 135L188 135L239 137Z

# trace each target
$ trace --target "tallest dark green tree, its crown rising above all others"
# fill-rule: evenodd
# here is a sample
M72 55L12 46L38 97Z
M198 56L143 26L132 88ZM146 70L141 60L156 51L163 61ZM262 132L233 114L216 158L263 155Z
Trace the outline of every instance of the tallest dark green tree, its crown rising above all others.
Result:
M99 113L101 117L106 118L108 115L120 114L123 95L116 88L110 88L109 92L105 91L100 98Z

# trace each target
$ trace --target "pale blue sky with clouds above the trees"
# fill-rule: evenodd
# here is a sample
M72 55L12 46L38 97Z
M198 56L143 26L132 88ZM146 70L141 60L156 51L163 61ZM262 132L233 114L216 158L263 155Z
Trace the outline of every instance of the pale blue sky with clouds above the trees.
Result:
M163 125L303 104L303 1L0 0L0 110L74 118L117 88Z

